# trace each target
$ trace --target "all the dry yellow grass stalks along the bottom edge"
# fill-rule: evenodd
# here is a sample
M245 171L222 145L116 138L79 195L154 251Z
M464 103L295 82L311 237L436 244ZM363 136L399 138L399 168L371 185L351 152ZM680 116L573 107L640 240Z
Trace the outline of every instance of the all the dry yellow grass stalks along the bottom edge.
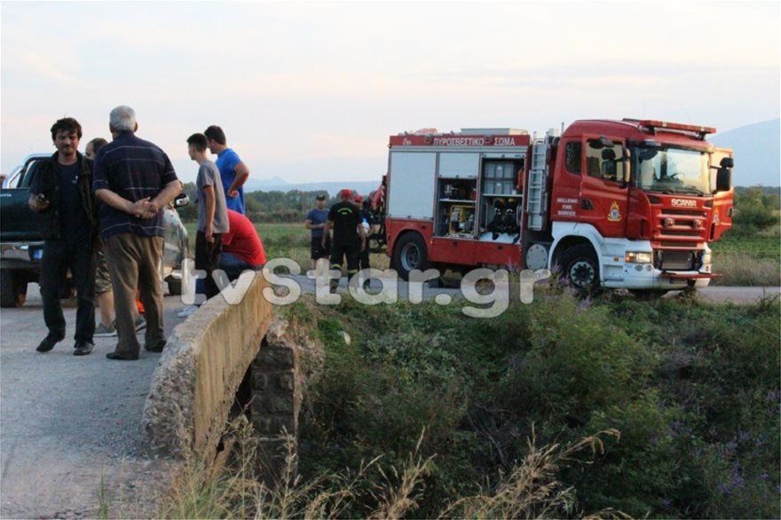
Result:
M236 439L233 463L215 475L203 463L188 463L173 478L170 492L159 504L161 518L343 518L356 512L355 500L367 496L375 507L368 518L402 518L410 515L422 499L423 480L430 472L431 458L410 453L399 469L384 470L379 458L355 471L323 475L304 482L296 474L295 445L288 439L286 467L279 481L267 484L256 479L257 441L246 420L233 422ZM455 500L440 518L543 518L571 516L574 490L556 480L556 472L572 463L589 463L578 456L604 453L602 437L619 437L614 429L601 431L567 445L538 448L529 440L529 453L502 479L493 492ZM422 442L418 443L420 447ZM369 469L382 477L372 482ZM626 518L605 509L590 517Z

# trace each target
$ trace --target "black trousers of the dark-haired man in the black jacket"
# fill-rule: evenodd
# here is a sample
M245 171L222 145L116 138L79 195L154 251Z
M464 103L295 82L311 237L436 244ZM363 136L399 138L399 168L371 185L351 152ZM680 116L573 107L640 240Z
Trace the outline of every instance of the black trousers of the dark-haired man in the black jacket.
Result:
M59 295L66 284L68 269L78 297L74 339L76 343L92 343L95 334L95 249L90 243L43 242L40 278L43 321L52 339L65 338L65 317Z

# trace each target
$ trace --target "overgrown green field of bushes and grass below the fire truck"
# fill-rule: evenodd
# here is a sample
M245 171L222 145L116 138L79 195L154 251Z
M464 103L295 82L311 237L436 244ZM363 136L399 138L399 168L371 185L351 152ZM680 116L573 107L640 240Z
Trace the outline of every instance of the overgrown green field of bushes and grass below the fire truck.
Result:
M255 481L248 432L158 516L777 518L779 310L554 291L470 319L307 295L284 311L323 345L300 343L298 477Z

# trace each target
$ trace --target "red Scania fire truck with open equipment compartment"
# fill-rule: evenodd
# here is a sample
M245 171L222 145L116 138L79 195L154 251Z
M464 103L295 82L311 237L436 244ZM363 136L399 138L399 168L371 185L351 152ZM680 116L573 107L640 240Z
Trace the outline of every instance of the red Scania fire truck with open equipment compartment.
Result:
M638 294L705 287L708 242L731 226L730 150L715 129L624 119L561 136L516 129L390 137L391 266L549 269L575 288Z

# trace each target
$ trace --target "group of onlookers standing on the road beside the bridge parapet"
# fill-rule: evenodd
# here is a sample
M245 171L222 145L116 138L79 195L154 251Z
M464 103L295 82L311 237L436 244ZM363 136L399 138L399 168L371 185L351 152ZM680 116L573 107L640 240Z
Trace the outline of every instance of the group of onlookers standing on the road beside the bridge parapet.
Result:
M48 335L37 346L39 352L51 351L65 339L59 297L68 270L78 297L75 355L90 354L94 346L96 288L101 308L98 335L115 331L118 336L115 350L106 358L138 359L136 331L145 326L146 351L160 352L166 343L159 271L163 209L183 185L168 155L136 136L132 108L114 108L109 130L111 142L93 139L83 155L78 151L81 125L70 117L55 122L51 139L57 152L43 161L30 186L29 206L41 216L44 240L40 285ZM211 297L218 293L211 272L224 268L234 280L244 269L259 269L265 256L254 225L243 216L242 185L249 170L227 147L223 130L209 126L188 138L187 144L190 157L199 164L195 266L208 272L204 292ZM216 163L209 160L207 148L217 154Z

